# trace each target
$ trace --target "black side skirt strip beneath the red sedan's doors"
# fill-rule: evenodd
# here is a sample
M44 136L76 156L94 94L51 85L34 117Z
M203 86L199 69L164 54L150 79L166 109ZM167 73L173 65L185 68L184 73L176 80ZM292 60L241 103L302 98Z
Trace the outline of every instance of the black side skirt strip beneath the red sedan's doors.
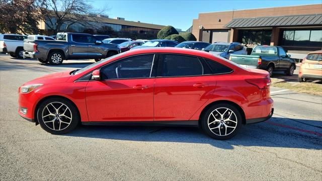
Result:
M198 127L197 121L89 121L81 122L82 125L103 126L183 126Z

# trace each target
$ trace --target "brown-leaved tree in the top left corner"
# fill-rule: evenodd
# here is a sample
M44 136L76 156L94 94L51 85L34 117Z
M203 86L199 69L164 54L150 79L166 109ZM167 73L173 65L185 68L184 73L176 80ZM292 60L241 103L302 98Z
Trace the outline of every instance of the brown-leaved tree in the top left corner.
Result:
M1 0L0 32L38 34L37 0Z

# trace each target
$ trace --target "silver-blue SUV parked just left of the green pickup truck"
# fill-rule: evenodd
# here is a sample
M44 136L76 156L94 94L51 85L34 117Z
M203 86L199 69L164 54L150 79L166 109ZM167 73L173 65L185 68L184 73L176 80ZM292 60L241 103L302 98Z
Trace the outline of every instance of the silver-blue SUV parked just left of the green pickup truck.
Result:
M246 48L237 42L226 43L226 42L215 42L207 46L204 51L212 53L214 55L219 55L226 59L229 58L231 53L237 55L247 55Z

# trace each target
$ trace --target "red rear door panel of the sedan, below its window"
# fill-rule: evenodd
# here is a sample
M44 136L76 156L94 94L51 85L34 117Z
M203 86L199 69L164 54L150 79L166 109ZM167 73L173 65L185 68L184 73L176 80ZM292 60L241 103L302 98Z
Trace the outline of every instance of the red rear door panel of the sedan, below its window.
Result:
M185 121L209 99L213 75L155 78L154 121Z

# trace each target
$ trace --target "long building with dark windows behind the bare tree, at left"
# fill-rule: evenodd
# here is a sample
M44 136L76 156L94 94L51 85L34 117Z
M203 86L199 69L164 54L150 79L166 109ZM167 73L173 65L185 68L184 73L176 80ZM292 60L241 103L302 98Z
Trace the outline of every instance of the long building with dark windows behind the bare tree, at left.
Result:
M99 20L99 21L98 21ZM53 20L52 20L53 21ZM49 23L47 23L49 24ZM163 25L154 25L141 23L139 21L126 21L124 18L109 18L108 16L99 16L94 22L88 22L88 26L75 23L67 27L67 24L62 25L60 31L83 33L85 30L92 29L94 33L102 27L110 27L113 32L112 37L132 38L132 39L155 39L157 32L164 28ZM48 31L50 28L44 23L39 23L39 29Z

